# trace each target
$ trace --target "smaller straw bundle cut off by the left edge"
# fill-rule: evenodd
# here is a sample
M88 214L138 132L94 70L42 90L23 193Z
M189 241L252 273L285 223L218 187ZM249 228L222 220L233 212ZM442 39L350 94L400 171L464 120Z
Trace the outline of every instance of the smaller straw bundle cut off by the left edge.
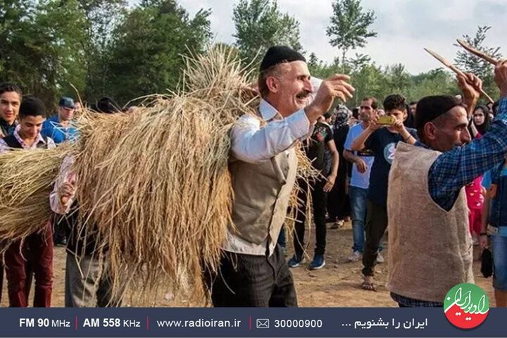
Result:
M44 229L51 218L49 194L69 151L63 146L13 149L0 155L0 239L4 244Z

